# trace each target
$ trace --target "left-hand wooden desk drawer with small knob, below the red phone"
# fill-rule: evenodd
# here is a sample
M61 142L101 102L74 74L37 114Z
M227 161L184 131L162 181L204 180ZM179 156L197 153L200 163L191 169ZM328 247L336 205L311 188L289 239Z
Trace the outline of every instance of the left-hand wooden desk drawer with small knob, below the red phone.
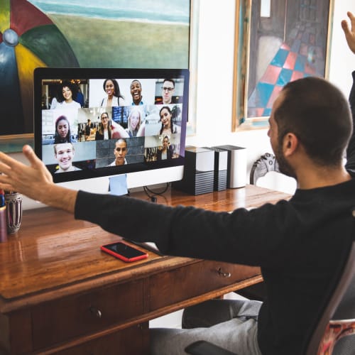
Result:
M65 342L142 313L142 280L46 302L32 310L33 347Z

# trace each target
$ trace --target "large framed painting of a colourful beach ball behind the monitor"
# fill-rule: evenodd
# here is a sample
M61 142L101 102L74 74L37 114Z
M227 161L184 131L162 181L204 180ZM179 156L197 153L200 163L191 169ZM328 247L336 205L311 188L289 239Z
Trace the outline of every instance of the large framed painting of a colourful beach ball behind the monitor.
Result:
M199 0L4 0L0 16L0 150L33 146L35 67L188 68L195 134ZM47 99L43 97L43 99Z

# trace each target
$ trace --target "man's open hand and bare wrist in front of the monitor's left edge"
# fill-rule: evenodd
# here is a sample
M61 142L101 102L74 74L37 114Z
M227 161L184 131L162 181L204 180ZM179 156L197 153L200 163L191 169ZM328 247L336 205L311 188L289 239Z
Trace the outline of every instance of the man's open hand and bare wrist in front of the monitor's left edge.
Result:
M23 146L30 165L0 152L0 189L20 192L33 200L74 212L77 192L53 183L53 178L30 146Z

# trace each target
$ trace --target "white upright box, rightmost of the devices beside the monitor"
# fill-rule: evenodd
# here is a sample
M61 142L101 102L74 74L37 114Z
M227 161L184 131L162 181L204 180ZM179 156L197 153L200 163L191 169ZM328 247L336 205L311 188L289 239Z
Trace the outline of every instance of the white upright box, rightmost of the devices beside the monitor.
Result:
M234 189L246 185L246 148L239 146L215 146L228 152L227 187Z

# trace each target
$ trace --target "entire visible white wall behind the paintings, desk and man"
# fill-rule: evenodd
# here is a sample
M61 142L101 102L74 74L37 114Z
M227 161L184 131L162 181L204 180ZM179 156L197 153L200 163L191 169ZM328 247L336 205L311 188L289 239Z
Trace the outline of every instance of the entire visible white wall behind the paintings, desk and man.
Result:
M223 6L222 6L223 5ZM346 46L340 21L355 13L354 0L334 0L334 26L329 80L346 94L355 57ZM248 148L248 171L259 155L271 152L266 129L231 132L235 0L200 0L198 40L197 133L187 137L193 146L232 144ZM13 154L23 160L21 153ZM38 205L24 201L24 208Z

